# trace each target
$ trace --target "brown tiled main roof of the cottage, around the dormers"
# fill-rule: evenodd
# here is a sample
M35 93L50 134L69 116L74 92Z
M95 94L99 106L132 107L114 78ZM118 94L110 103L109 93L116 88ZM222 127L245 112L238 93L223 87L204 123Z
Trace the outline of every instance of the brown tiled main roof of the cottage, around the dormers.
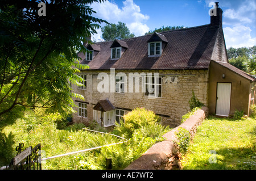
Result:
M80 63L88 64L90 69L209 69L219 31L220 28L207 24L157 33L168 44L161 56L155 57L148 56L147 43L154 34L118 40L119 44L128 47L119 60L110 59L113 41L95 43L100 46L100 52L92 61L85 61L85 56L80 53Z

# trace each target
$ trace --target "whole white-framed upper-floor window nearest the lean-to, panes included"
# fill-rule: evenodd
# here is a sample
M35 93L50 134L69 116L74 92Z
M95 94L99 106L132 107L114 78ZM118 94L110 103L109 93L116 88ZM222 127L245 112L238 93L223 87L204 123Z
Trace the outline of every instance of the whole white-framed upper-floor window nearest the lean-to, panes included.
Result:
M158 97L162 96L162 77L147 76L144 80L144 95Z

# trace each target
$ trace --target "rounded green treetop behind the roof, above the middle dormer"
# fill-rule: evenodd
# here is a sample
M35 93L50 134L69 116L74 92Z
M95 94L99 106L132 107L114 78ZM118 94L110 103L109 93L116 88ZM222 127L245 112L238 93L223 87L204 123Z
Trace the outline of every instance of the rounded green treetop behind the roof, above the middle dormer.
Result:
M117 24L107 24L102 28L102 38L105 41L114 41L115 39L129 39L134 37L134 33L130 33L125 23L118 22Z

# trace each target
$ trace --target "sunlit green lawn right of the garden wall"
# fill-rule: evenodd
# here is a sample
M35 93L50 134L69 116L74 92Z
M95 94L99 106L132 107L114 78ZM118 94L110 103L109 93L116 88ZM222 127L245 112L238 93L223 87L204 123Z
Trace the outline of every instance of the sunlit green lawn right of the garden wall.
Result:
M181 160L183 169L256 169L256 120L208 117Z

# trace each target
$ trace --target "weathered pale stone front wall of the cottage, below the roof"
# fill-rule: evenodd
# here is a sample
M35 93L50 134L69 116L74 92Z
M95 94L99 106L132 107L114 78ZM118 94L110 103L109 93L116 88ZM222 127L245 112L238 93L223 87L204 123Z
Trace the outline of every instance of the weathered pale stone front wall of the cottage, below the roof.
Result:
M103 71L102 71L103 72ZM121 71L115 70L115 75ZM209 71L208 70L123 70L122 73L127 75L127 92L98 92L97 86L101 80L97 79L101 71L84 70L83 72L87 77L86 90L79 90L77 86L73 86L76 93L84 95L87 103L88 117L79 117L77 113L73 113L73 121L89 121L93 120L93 107L97 104L98 100L108 98L115 108L131 111L137 107L144 107L148 110L154 111L162 117L162 124L169 125L171 128L180 125L181 116L189 111L189 99L192 97L192 90L201 102L208 106L208 92L209 92ZM108 74L110 82L110 71L105 70L104 73ZM142 92L141 78L139 82L139 92L129 92L129 81L133 80L129 73L158 73L162 77L162 92L161 97L156 99L149 99ZM133 80L135 82L135 80ZM135 83L133 83L133 86ZM110 83L109 83L110 87ZM109 88L110 91L110 88ZM74 99L79 100L79 99ZM81 101L81 100L79 100ZM75 108L77 110L77 108Z

